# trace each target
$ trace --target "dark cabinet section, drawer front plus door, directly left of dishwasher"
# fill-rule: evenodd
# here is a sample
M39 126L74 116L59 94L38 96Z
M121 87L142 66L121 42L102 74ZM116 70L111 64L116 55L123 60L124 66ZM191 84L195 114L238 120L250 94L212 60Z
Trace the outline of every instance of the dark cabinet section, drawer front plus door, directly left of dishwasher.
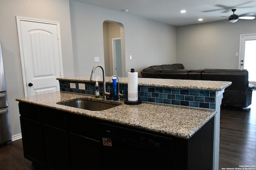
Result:
M72 170L100 170L100 123L81 115L68 116Z

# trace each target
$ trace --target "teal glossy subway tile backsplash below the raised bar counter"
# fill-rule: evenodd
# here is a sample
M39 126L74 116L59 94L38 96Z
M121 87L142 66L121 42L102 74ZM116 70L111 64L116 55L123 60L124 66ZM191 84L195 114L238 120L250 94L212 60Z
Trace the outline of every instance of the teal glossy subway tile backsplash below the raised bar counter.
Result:
M60 91L74 92L81 94L94 95L94 82L70 82L60 80ZM70 83L76 83L76 89L70 88ZM84 83L86 90L78 89L78 83ZM100 93L102 95L102 83L99 83ZM108 90L109 89L109 90ZM113 92L112 84L106 84L106 91ZM128 98L127 84L120 85L120 93L124 94L122 99ZM215 109L216 107L216 92L202 91L202 90L184 90L184 89L170 89L170 88L155 88L138 86L138 98L145 102L155 102L162 104L173 104L179 106L200 107Z

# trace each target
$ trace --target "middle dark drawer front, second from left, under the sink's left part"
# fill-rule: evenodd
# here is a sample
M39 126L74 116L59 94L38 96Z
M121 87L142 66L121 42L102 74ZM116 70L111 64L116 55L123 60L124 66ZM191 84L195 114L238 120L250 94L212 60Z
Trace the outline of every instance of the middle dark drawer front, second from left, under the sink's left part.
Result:
M66 112L41 107L40 113L42 115L43 123L60 129L66 129Z

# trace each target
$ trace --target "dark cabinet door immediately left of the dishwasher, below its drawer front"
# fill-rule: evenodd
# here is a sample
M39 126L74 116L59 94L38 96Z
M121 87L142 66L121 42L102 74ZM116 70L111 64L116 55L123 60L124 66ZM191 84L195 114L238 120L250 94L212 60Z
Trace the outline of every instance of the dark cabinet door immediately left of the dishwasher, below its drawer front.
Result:
M70 133L72 170L100 170L100 141Z

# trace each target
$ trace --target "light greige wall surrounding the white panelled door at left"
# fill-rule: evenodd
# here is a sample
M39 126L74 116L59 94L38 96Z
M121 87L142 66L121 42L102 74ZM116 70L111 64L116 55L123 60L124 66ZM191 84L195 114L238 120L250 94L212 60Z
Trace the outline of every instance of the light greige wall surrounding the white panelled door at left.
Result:
M12 135L20 131L18 102L24 97L16 16L60 22L64 76L74 75L68 0L0 0L0 40Z

